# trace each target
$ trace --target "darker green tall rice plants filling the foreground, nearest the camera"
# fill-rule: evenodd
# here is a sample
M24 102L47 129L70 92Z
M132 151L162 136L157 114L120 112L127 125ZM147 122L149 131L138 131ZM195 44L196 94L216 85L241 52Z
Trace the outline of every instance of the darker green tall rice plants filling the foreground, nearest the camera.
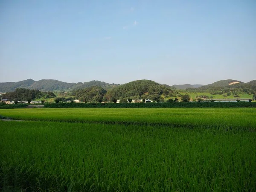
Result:
M0 121L0 138L3 191L253 191L256 186L255 132Z

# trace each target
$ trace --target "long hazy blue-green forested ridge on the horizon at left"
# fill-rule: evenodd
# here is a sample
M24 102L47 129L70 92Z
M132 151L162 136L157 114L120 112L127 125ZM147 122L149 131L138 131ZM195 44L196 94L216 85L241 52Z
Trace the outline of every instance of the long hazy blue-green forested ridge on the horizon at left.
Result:
M12 92L16 88L38 89L41 91L67 91L74 89L81 89L92 86L105 87L108 90L110 87L114 87L117 84L109 84L103 81L89 81L79 83L66 83L54 79L42 79L34 81L33 79L27 79L18 82L6 82L0 83L0 92Z

